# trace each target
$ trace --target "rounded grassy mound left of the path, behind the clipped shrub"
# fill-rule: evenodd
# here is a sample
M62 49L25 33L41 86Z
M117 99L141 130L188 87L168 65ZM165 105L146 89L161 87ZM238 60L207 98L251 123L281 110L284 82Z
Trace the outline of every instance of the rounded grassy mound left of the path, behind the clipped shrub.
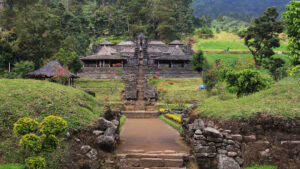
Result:
M20 138L12 131L21 117L40 122L56 115L68 122L69 129L81 129L103 112L84 91L39 80L0 79L0 103L0 163L23 163Z

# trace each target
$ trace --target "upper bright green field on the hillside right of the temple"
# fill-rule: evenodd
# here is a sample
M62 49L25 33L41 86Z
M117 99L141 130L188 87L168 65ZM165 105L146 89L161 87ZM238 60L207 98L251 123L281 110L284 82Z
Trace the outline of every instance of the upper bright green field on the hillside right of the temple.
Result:
M228 32L221 32L215 34L213 38L210 39L199 39L194 36L195 44L194 49L217 52L224 51L229 48L229 51L248 51L247 46L244 45L244 40L238 35ZM287 42L280 41L280 47L274 49L275 51L287 51Z

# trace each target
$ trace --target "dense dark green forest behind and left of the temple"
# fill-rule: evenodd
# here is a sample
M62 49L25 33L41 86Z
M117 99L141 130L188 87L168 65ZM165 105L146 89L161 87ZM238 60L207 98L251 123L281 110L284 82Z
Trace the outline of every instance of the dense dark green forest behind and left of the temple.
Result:
M76 72L79 56L97 38L129 39L145 32L171 41L191 34L195 20L192 0L1 1L0 72L21 61L38 68L50 59Z

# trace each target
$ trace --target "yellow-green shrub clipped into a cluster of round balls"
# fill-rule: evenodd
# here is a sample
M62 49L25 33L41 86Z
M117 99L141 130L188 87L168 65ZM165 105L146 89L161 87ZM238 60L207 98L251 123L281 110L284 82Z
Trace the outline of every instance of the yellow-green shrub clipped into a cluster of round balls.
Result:
M38 127L40 127L40 132L37 132ZM14 124L15 133L26 134L20 139L22 148L35 155L41 152L53 152L59 144L56 136L64 132L66 128L67 122L57 116L46 117L40 125L30 118L21 118ZM40 156L29 157L25 159L25 163L29 169L45 168L45 159Z

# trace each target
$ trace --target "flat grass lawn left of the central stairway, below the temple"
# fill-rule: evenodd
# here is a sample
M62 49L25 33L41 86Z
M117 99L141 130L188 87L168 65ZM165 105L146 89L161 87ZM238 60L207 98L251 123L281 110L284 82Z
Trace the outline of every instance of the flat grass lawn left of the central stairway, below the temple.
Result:
M91 90L96 92L96 98L99 103L105 103L104 97L110 96L111 80L109 79L76 79L76 87L82 90ZM118 89L112 95L112 104L122 104L121 91L124 89L124 83L118 85Z

